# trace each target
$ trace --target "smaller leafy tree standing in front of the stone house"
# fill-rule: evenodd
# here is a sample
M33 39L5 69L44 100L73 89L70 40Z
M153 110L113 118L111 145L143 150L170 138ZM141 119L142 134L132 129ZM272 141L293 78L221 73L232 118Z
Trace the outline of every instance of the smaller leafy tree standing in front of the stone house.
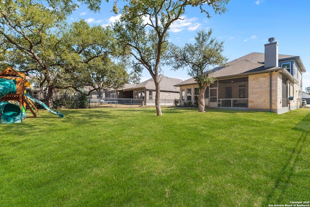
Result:
M199 86L198 107L204 112L204 92L215 81L209 70L217 65L223 65L227 58L222 55L224 42L218 42L211 37L212 30L199 31L194 44L185 44L183 48L171 46L171 65L174 69L187 68L189 76L197 81Z

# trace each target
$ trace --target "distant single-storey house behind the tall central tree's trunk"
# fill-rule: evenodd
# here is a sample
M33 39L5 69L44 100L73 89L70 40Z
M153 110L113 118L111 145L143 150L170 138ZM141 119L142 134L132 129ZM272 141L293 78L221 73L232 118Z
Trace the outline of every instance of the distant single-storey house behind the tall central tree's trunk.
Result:
M168 78L160 75L160 104L173 105L174 99L179 98L180 89L174 86L183 80ZM155 83L153 78L141 82L131 88L126 88L118 91L122 93L124 98L133 98L137 103L144 101L145 105L155 105ZM119 96L120 97L120 96Z

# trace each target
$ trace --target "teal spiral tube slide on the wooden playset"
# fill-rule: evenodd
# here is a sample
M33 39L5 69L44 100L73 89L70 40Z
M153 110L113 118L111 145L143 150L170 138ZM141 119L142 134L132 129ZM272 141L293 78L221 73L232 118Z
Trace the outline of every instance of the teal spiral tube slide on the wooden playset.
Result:
M16 80L0 79L0 98L7 94L16 93ZM1 124L22 122L22 111L19 106L0 101Z

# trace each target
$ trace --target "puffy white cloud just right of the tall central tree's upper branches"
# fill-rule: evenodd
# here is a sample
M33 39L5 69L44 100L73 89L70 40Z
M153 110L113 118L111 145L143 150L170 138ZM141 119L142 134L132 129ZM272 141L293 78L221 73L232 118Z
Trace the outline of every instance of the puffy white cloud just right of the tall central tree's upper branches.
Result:
M198 18L186 18L186 16L181 16L180 19L176 20L171 24L171 32L181 32L182 30L195 31L200 28L201 23L197 22Z

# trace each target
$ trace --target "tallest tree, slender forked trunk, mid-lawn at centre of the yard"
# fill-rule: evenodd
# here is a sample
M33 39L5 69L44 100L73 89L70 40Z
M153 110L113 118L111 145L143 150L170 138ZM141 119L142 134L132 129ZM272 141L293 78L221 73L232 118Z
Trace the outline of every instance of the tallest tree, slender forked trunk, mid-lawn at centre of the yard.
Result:
M165 61L168 51L169 29L173 22L180 20L187 7L198 10L210 17L209 8L216 14L226 11L229 0L124 0L122 17L115 24L118 40L131 54L136 71L147 69L156 87L155 105L158 116L160 108L160 64ZM116 5L116 4L115 4ZM116 6L114 6L116 11Z

